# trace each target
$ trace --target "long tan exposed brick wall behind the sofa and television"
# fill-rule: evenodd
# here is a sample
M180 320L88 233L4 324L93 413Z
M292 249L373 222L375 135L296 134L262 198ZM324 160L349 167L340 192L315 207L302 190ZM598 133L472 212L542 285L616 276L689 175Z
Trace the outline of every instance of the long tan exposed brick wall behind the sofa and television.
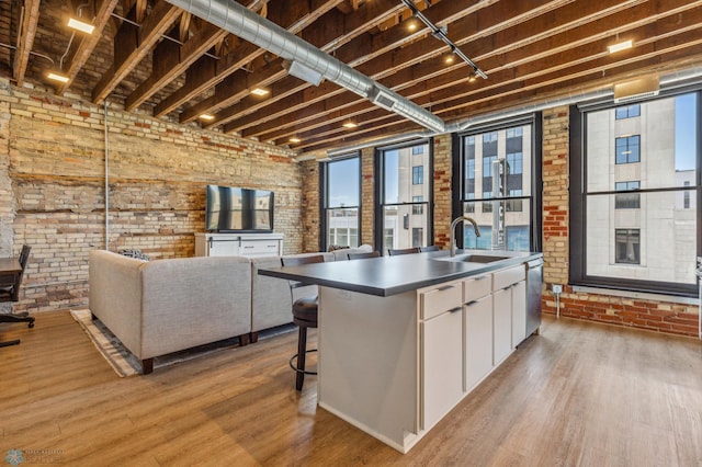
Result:
M0 219L11 224L0 244L15 254L32 246L14 308L84 306L88 252L105 248L104 107L0 86ZM292 152L118 106L109 107L107 127L110 250L193 255L213 183L273 190L285 252L302 251L302 175Z

